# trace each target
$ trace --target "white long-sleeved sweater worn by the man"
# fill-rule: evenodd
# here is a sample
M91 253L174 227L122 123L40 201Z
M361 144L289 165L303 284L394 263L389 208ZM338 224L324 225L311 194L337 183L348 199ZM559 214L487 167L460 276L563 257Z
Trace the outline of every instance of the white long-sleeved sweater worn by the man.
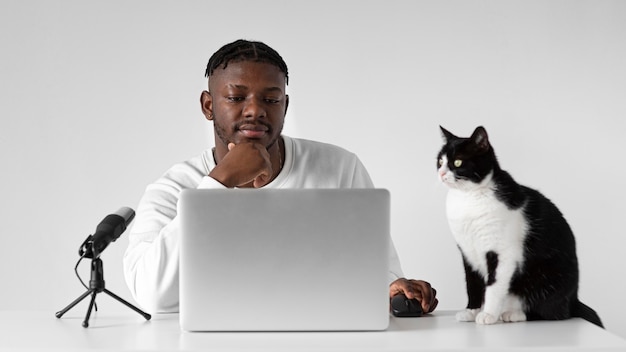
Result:
M374 187L355 154L330 144L287 136L283 140L283 169L266 188ZM149 312L178 311L178 197L187 188L224 188L207 176L213 167L212 151L207 149L170 168L146 188L139 203L124 254L124 275L135 300ZM389 248L391 283L403 274L393 242Z

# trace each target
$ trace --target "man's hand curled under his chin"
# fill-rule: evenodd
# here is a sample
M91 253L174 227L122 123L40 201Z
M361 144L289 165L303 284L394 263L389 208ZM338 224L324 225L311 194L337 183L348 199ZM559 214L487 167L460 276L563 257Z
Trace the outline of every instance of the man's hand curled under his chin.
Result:
M271 175L270 154L258 143L229 143L228 153L209 173L209 176L229 188L250 183L260 188L270 181Z

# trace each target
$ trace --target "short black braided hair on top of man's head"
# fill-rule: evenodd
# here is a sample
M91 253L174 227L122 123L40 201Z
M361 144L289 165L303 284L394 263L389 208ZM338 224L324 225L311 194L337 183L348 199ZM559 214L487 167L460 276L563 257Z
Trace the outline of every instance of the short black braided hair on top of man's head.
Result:
M213 74L216 68L222 66L222 68L225 69L229 62L240 61L255 61L272 64L285 74L285 82L289 83L287 64L276 50L270 48L265 43L243 39L226 44L216 51L209 59L204 76L208 78Z

